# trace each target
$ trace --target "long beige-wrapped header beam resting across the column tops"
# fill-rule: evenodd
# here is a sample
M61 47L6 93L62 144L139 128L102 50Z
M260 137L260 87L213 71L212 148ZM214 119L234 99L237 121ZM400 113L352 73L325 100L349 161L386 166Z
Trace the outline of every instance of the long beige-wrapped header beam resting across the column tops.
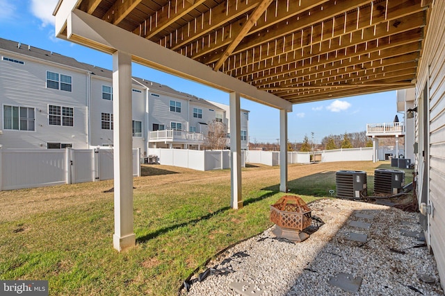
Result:
M291 103L282 98L268 92L261 92L256 87L220 71L213 71L204 64L165 49L159 44L88 15L86 12L74 9L66 19L67 39L72 42L106 53L115 53L118 50L129 53L133 62L144 66L202 83L223 92L237 92L243 98L270 107L292 111Z

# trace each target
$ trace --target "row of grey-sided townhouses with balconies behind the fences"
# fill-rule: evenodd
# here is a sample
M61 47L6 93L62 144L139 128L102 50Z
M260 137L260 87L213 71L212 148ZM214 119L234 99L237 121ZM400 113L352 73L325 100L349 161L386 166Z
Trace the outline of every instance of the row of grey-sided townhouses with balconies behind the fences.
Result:
M0 38L0 145L3 148L113 146L112 71ZM209 148L209 123L229 127L229 106L133 78L133 148ZM248 114L241 110L242 148ZM229 146L229 139L227 140Z

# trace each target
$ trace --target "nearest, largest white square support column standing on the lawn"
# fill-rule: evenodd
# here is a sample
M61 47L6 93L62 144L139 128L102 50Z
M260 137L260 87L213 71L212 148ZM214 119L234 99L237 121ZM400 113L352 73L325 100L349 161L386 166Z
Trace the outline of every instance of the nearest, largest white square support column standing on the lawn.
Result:
M136 244L133 233L133 151L131 141L131 56L113 53L114 229L119 252Z

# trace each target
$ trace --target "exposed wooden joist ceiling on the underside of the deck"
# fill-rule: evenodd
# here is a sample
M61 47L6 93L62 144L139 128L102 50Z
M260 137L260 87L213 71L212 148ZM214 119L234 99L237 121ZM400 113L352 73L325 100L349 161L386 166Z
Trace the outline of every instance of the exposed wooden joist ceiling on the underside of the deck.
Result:
M79 0L291 103L414 87L432 0Z

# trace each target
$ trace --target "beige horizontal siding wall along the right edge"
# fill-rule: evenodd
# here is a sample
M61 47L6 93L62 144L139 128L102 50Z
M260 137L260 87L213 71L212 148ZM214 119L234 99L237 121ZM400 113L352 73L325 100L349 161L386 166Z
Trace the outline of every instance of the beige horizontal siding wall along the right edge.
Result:
M416 105L419 109L421 105L419 98L428 82L428 110L420 111L429 114L428 194L434 205L434 216L430 216L430 245L443 283L445 280L445 1L436 0L432 5L425 49L419 68ZM421 124L419 121L416 123L416 134L421 134L423 129ZM421 170L419 166L417 169Z

